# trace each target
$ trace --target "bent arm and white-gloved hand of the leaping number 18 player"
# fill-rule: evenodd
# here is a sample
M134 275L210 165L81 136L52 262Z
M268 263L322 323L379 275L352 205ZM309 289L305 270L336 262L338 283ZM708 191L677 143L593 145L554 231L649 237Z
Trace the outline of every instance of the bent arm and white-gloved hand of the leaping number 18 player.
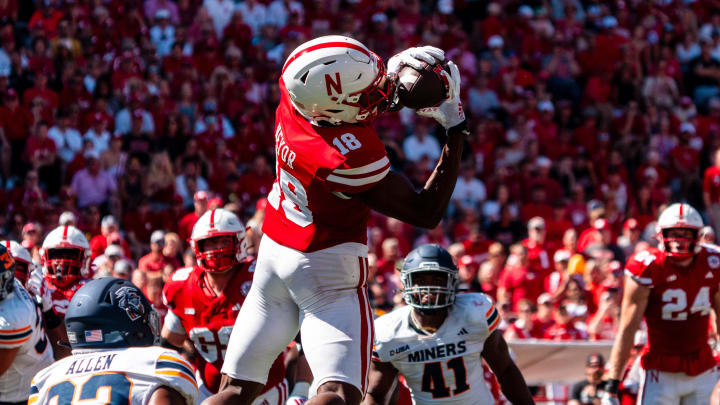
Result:
M356 195L381 214L428 229L437 226L450 202L468 134L460 102L460 73L454 63L448 62L448 66L451 74L443 74L449 76L450 98L439 107L418 110L418 114L434 118L447 131L440 160L425 186L417 191L405 176L390 172L373 188Z

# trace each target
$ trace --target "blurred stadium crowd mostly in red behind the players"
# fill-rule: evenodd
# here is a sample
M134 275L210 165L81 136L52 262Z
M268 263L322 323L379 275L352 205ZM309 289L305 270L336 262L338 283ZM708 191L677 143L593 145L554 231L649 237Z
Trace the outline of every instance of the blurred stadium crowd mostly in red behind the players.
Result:
M0 234L40 261L74 224L95 277L162 306L187 239L225 207L261 234L282 63L340 33L387 60L438 46L463 77L471 137L436 229L375 215L377 314L398 262L438 243L507 338L611 339L624 260L683 200L720 228L720 9L713 1L0 0ZM444 131L412 111L376 129L421 186ZM718 156L720 157L720 155ZM707 169L707 171L706 171Z

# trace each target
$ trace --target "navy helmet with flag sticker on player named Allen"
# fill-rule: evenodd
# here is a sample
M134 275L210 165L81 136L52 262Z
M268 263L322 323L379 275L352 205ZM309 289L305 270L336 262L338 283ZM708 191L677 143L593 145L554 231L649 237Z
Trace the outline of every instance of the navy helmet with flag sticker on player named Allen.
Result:
M142 291L115 277L82 286L65 314L73 349L152 346L160 336L160 318Z

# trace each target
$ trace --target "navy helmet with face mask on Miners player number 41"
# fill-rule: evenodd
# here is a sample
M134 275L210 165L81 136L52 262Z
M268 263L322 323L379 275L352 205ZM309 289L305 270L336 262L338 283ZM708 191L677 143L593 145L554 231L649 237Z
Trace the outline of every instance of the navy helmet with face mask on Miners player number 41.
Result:
M437 274L444 285L425 285L419 275ZM449 307L455 302L455 292L459 281L458 268L448 253L440 245L422 245L408 253L400 270L400 279L405 303L419 310L435 310Z

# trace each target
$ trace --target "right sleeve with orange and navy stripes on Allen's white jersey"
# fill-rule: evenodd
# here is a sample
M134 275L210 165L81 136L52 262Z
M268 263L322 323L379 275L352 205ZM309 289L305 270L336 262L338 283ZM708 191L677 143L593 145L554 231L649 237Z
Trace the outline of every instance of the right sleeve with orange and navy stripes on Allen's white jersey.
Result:
M198 385L193 368L176 351L166 350L155 360L155 377L160 385L179 392L187 405L195 405L198 399Z

